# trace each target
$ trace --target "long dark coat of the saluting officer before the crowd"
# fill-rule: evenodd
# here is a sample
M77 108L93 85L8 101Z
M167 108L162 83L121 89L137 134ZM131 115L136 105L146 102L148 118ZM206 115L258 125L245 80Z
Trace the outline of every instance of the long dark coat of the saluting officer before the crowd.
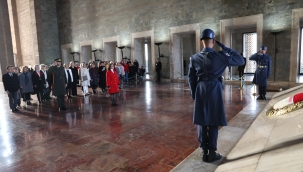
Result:
M66 94L65 85L67 84L65 69L63 66L51 66L48 69L49 73L53 73L53 95L64 96Z

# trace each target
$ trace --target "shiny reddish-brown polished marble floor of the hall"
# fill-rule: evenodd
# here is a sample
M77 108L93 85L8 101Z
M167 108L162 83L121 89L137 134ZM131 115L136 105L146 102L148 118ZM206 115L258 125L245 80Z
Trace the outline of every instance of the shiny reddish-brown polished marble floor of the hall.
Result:
M0 171L170 171L198 147L183 83L130 85L118 106L98 94L66 100L66 112L58 112L56 100L34 100L18 113L10 112L0 85ZM252 93L225 85L228 120L254 100Z

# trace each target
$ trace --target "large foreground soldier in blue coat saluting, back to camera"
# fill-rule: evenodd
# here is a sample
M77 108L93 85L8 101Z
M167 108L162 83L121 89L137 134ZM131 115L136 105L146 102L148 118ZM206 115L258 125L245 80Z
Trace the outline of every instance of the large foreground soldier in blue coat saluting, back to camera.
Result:
M234 50L216 43L222 51L216 52L215 33L205 29L201 34L201 52L190 58L189 85L190 95L195 100L193 123L197 125L198 141L203 150L202 160L213 162L221 159L216 153L218 128L226 126L222 93L222 74L227 66L244 64L243 57Z

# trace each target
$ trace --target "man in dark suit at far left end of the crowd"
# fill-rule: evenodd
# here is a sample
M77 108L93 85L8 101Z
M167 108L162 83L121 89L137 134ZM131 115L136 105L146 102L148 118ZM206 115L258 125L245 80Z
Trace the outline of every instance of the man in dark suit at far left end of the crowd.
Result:
M19 111L17 109L17 93L19 92L18 75L14 73L13 66L6 67L7 73L2 76L4 90L9 98L9 106L12 112Z

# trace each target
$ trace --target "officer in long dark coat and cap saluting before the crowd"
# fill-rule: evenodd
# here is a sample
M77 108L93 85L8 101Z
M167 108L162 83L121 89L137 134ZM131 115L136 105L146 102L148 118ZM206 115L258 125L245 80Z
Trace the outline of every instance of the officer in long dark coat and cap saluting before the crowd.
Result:
M54 66L48 69L48 72L53 73L53 95L57 96L59 111L65 111L64 95L66 94L67 80L64 67L61 65L61 59L55 59Z

